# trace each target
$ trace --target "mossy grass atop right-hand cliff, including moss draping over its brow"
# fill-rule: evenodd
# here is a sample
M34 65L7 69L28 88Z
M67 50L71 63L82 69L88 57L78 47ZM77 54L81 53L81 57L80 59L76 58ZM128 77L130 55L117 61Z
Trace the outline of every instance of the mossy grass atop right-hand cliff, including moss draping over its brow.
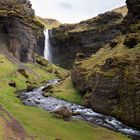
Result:
M116 68L123 68L126 63L130 63L131 61L135 60L135 57L139 56L140 44L135 46L135 48L133 49L129 49L125 45L123 45L124 36L121 36L120 38L118 38L118 40L119 44L115 48L112 49L109 45L106 45L96 54L92 55L89 59L80 62L79 67L85 69L85 77L88 78L90 74L96 73L99 73L106 77L113 77L117 72ZM111 70L103 71L102 66L106 63L106 60L110 58L117 60L114 62L114 65L116 65L116 67Z

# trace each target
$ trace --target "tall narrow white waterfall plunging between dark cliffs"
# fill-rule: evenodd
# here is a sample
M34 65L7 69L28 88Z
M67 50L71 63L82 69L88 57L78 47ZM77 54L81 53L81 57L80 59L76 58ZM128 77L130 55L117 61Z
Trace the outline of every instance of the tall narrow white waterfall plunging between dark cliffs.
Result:
M51 53L50 53L50 41L49 41L49 30L44 31L45 34L45 50L44 58L51 62Z

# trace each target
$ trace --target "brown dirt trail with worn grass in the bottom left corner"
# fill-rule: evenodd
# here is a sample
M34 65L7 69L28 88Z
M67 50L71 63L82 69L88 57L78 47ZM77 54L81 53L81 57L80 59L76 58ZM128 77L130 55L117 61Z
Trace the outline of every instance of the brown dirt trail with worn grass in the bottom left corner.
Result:
M0 105L0 140L34 140L20 122Z

